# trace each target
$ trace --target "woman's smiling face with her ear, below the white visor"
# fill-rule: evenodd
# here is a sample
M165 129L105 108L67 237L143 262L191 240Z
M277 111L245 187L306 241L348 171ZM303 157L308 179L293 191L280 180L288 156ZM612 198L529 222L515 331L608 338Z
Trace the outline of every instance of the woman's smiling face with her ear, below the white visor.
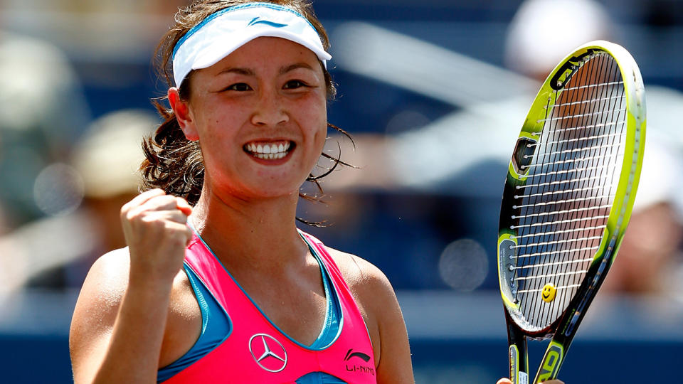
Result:
M189 100L171 88L169 102L199 141L205 185L243 198L298 192L327 134L326 82L311 50L255 38L196 70L190 87Z

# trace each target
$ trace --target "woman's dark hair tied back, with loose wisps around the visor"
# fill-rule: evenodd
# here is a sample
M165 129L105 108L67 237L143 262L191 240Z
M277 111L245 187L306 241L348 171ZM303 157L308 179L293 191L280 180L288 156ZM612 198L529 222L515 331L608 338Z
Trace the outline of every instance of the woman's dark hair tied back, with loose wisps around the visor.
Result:
M325 32L322 24L314 14L313 8L307 0L260 0L261 2L269 2L272 4L279 4L293 9L308 19L314 26L322 45L325 50L329 49L329 38ZM157 70L159 78L166 80L166 84L171 87L174 85L173 69L172 69L172 54L176 43L187 33L192 27L206 18L207 16L226 9L230 6L238 4L246 4L254 2L253 0L198 0L194 1L190 6L179 9L175 17L175 25L163 36L157 50L154 52L154 67ZM322 63L321 63L322 66ZM332 78L327 70L322 66L324 79L327 85L327 99L333 100L336 95L336 88ZM193 72L190 72L183 80L179 88L179 95L182 100L189 100L189 90L191 77ZM188 203L194 206L201 194L201 187L204 179L204 165L201 157L201 150L198 142L191 142L186 139L184 133L180 129L178 121L173 110L162 104L167 97L159 97L152 102L157 107L159 114L162 115L164 122L159 126L157 131L151 137L145 137L142 143L142 149L147 159L142 162L140 169L142 171L142 188L162 188L166 193L185 198ZM329 127L337 129L342 134L349 137L349 134L344 130L335 127L332 124L327 124ZM318 180L327 176L338 164L344 164L339 158L334 158L328 154L321 154L327 159L332 160L332 167L319 176L309 174L307 181L312 181L318 188L322 195L322 188ZM302 198L307 200L317 201L319 198L315 196L308 196L304 193L299 194ZM305 221L305 220L302 220Z

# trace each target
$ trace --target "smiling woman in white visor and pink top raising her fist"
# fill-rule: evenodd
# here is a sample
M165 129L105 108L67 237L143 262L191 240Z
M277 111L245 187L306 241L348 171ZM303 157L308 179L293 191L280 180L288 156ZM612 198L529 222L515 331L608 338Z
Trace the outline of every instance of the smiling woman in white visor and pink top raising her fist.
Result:
M160 188L122 208L128 247L83 285L75 383L412 383L386 277L295 226L334 93L312 9L203 0L176 21L143 164Z

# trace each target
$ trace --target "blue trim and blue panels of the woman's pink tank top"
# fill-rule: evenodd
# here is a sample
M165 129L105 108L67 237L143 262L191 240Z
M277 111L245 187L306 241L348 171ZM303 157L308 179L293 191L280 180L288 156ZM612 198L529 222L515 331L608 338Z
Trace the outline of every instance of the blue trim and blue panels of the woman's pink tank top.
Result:
M192 229L194 230L194 228ZM206 249L209 250L209 252L211 252L211 255L213 255L213 257L216 257L216 255L213 254L211 248L208 247L206 242L203 241L203 239L198 235L198 233L196 233L196 235L199 238L199 240L201 240ZM339 303L337 289L330 290L330 284L332 284L332 287L334 287L334 283L332 282L332 279L329 277L327 267L325 267L321 257L317 254L317 252L315 252L314 248L309 244L308 240L306 240L306 238L304 238L303 236L302 239L304 240L304 242L306 242L306 245L308 245L309 250L317 260L318 265L320 267L325 292L325 299L327 302L327 309L325 311L325 319L322 326L322 330L310 346L305 346L302 343L299 343L292 339L289 335L285 334L285 332L283 332L279 327L273 324L272 321L270 321L270 319L268 319L268 316L265 316L263 311L260 310L258 305L256 305L255 302L253 302L251 297L249 297L249 295L246 294L244 289L240 287L240 285L235 281L235 279L233 279L233 282L235 282L235 284L242 290L245 296L250 299L252 304L256 307L256 309L258 309L258 311L260 311L264 318L267 319L268 322L272 324L272 326L275 326L275 329L277 329L277 331L280 331L282 335L286 336L291 341L297 343L297 345L302 346L303 348L320 351L332 345L332 343L334 343L334 341L337 340L339 334L341 333L343 324L342 306ZM218 257L216 257L216 260L218 260ZM220 260L218 260L218 262L220 263ZM221 266L223 266L222 263ZM223 267L223 269L225 270L225 267ZM184 270L190 281L192 289L194 290L194 294L199 304L199 309L201 311L201 334L199 335L197 341L194 343L194 346L192 346L192 348L190 348L189 351L187 351L183 356L178 358L178 360L158 370L157 383L161 383L164 380L168 380L176 373L179 373L181 370L188 366L191 366L191 364L195 363L203 356L206 356L206 354L208 354L209 352L213 351L213 349L221 345L221 343L223 343L223 341L225 341L232 332L230 316L228 316L226 310L223 309L223 307L218 303L216 297L213 297L213 294L208 290L208 288L201 281L201 279L195 274L194 270L192 270L187 265L184 265ZM232 279L232 275L228 272L228 270L226 270L226 272ZM206 300L207 297L208 300ZM211 315L221 314L221 312L223 316ZM227 336L223 336L226 334ZM344 382L339 381L339 378L336 378L332 375L328 375L327 373L314 372L309 373L300 379L297 379L297 384L307 383L337 384Z

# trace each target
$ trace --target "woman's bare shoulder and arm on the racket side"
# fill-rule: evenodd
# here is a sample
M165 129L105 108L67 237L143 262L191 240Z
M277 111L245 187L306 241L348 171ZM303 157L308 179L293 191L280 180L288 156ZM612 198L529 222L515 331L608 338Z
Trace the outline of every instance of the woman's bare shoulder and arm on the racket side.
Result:
M336 254L368 326L378 383L414 383L408 332L391 283L370 262L338 251Z

